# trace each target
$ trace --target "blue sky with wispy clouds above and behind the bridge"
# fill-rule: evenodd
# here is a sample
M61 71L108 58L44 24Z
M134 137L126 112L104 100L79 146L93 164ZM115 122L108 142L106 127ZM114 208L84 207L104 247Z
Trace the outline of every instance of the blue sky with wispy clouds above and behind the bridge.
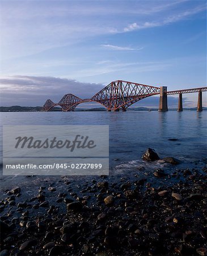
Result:
M66 93L90 98L115 80L206 86L206 1L0 0L0 31L1 106L57 103ZM197 93L183 102L196 106Z

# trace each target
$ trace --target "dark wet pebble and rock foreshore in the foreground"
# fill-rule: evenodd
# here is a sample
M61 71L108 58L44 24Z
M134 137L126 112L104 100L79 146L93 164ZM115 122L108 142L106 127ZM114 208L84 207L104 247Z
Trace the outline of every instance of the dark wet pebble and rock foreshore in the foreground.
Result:
M67 176L31 197L12 188L0 201L0 255L206 255L206 174Z

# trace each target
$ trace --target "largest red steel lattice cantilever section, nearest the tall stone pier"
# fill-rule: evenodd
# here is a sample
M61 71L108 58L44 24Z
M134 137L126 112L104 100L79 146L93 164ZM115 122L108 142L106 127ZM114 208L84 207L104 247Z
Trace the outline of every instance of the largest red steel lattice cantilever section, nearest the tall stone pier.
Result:
M91 100L100 102L107 109L126 109L134 102L159 92L160 88L155 86L117 80L96 93Z

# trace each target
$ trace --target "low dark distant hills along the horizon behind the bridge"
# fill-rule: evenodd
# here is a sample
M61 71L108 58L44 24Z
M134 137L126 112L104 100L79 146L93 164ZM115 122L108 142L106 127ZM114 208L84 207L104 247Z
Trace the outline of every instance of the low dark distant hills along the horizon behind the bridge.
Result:
M186 109L184 108L184 111L189 111L189 110L196 110L197 108L189 108ZM203 110L207 110L207 108L203 107ZM130 111L157 111L157 108L129 108L128 110ZM174 110L176 111L177 109L169 109L169 110ZM41 112L43 111L43 107L41 106L9 106L9 107L4 107L0 106L0 112ZM51 112L60 112L62 111L61 108L54 107ZM106 111L105 108L92 108L92 109L81 109L81 108L76 108L75 112L88 112L88 111Z

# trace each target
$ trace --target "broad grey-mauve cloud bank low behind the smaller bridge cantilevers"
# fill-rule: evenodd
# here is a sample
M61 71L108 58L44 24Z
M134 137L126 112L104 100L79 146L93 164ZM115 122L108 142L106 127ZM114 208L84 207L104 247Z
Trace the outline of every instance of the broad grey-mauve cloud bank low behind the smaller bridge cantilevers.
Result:
M2 106L41 106L48 99L60 101L66 93L90 98L104 87L101 84L42 76L2 77L0 84Z

